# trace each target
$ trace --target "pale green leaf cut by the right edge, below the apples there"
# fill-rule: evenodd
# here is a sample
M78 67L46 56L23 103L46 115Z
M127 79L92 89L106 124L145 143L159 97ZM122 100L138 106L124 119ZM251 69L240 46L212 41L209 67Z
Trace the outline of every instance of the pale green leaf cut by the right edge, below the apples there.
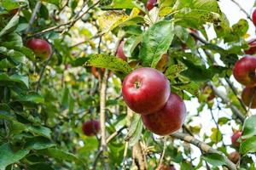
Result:
M244 122L241 139L248 139L256 135L256 115L249 116Z

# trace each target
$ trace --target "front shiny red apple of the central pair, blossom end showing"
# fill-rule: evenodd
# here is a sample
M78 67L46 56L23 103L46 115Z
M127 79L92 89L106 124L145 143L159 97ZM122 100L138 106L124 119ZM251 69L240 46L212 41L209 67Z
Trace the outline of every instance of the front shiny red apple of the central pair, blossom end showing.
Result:
M144 67L125 77L122 92L125 103L132 111L150 114L166 105L171 88L163 73Z

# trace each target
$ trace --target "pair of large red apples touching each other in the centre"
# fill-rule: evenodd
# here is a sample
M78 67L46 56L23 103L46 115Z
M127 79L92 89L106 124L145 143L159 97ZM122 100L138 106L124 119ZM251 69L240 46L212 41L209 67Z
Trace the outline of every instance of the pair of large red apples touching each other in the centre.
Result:
M123 98L131 111L142 116L143 124L158 135L168 135L182 127L186 107L160 71L144 67L132 71L123 82Z

